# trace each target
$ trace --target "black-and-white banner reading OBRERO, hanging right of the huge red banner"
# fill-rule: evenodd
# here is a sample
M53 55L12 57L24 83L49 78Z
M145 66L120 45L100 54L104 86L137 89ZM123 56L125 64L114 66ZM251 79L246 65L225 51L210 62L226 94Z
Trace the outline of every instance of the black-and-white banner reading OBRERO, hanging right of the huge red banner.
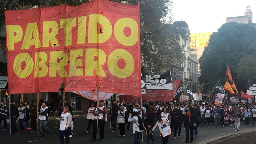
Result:
M146 83L147 90L173 90L170 70L161 75L146 75Z

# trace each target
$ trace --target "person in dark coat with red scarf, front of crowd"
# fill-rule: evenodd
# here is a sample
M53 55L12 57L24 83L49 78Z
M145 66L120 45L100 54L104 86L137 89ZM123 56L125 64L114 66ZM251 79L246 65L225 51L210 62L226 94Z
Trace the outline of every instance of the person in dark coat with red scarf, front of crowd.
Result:
M193 129L196 127L196 112L195 109L188 105L187 112L184 113L184 126L186 128L186 141L185 143L193 142ZM189 140L189 132L190 132L190 141Z

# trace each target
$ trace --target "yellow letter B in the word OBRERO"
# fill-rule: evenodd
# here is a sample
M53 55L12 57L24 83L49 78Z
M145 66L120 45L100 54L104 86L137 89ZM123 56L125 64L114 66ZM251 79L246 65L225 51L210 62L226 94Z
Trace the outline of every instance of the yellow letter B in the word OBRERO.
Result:
M40 61L41 59L41 61ZM35 77L44 77L48 73L48 67L46 65L48 56L45 52L36 52L35 53ZM39 70L39 68L42 68Z

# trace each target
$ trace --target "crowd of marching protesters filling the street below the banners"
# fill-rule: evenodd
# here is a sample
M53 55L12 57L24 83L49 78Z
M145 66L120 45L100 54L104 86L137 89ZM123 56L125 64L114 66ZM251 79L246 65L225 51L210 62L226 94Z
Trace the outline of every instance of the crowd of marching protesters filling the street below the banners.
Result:
M72 137L73 113L70 104L65 100L65 106L61 107L60 115L54 118L60 121L59 138L61 144L64 144L63 138L66 139L66 143L69 143L69 138ZM39 103L39 132L40 137L50 136L48 128L48 107L46 102ZM11 112L8 112L5 103L2 101L0 106L0 123L4 121L4 128L7 128L7 115L11 116L11 130L13 135L25 130L31 133L37 131L36 125L36 101L32 101L32 105L28 105L28 102L20 102L20 107L17 108L14 101L10 102ZM107 121L108 110L104 101L99 102L99 108L92 102L90 108L85 108L84 111L89 119L87 129L84 131L88 134L92 125L93 133L91 141L96 140L97 135L97 118L99 118L99 134L100 140L104 140L104 130ZM99 111L99 112L97 112ZM154 133L158 135L160 133L162 137L162 144L168 143L177 136L180 137L182 129L186 131L185 143L192 143L193 139L197 138L198 128L200 125L207 127L220 127L220 126L233 126L235 131L239 131L239 125L241 121L245 125L256 125L256 108L254 103L248 102L226 102L221 106L214 105L212 100L204 102L202 100L195 101L195 103L189 103L186 100L180 102L161 102L161 101L142 101L142 107L136 100L134 101L112 101L110 107L110 123L112 126L112 132L116 132L116 127L119 128L119 136L125 136L130 128L134 134L134 143L139 144L142 141L142 132L146 135L146 142L151 140L155 143ZM16 127L16 121L19 119L20 130ZM31 124L28 123L30 120ZM252 122L252 124L251 124ZM26 128L27 127L27 128ZM26 128L26 129L25 129ZM159 130L159 131L158 131ZM44 135L44 132L47 135Z

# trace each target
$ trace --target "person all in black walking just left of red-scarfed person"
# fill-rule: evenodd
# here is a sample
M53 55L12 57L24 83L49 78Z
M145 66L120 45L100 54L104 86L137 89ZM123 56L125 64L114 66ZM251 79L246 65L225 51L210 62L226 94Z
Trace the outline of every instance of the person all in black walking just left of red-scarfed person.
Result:
M174 126L174 138L177 136L177 131L179 128L179 137L180 137L180 132L181 132L181 124L180 124L180 119L182 117L183 113L181 112L180 109L178 109L178 106L175 105L174 109L172 110L172 122Z

